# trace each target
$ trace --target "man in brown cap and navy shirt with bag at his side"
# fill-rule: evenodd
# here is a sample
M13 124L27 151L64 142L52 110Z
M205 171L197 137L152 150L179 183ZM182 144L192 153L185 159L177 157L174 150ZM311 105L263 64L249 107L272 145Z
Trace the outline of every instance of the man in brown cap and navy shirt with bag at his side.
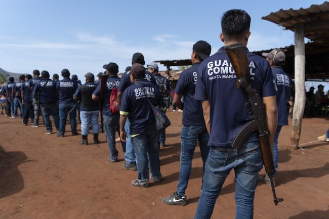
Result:
M130 121L130 137L137 158L138 177L133 186L148 187L148 159L149 155L151 179L161 181L158 135L155 129L155 117L151 105L166 107L162 95L155 84L145 79L145 68L141 64L134 64L130 69L132 85L122 96L120 105L120 138L126 141L125 124Z

